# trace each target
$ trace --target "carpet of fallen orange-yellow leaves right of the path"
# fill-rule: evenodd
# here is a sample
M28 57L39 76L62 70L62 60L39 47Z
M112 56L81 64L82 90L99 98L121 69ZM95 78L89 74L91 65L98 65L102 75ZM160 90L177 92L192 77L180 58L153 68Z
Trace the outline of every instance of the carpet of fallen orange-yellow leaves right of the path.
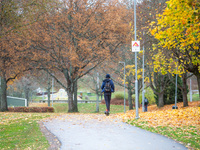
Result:
M173 104L174 105L174 104ZM172 109L173 105L167 105L163 108L149 106L148 112L139 110L139 121L147 121L148 126L199 126L200 125L200 101L189 102L189 107L181 107L183 103L178 103L178 109ZM124 121L135 119L135 110L128 111L126 114L120 114Z

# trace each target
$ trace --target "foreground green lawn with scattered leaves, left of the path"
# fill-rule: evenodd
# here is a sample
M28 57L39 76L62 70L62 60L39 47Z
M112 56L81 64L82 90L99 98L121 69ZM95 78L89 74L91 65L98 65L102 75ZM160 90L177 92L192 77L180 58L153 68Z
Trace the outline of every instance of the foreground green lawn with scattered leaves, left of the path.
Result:
M47 149L49 143L37 123L46 117L50 114L0 113L0 149Z

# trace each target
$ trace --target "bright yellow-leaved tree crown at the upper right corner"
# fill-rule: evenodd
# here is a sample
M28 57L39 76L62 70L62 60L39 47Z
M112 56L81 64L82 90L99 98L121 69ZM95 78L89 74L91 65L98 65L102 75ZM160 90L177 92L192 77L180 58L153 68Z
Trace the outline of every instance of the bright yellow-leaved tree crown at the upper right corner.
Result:
M160 52L171 57L168 62L178 61L179 74L191 72L197 77L200 95L199 11L198 0L170 0L151 33L164 48Z

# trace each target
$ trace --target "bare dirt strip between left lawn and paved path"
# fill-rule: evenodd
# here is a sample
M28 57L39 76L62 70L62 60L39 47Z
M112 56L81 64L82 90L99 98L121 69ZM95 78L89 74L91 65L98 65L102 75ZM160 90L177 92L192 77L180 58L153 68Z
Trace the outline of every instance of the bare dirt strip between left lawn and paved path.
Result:
M41 132L45 135L45 137L47 138L50 147L48 148L48 150L59 150L61 147L61 142L59 141L59 139L52 134L43 124L42 121L38 122L40 125L40 130Z

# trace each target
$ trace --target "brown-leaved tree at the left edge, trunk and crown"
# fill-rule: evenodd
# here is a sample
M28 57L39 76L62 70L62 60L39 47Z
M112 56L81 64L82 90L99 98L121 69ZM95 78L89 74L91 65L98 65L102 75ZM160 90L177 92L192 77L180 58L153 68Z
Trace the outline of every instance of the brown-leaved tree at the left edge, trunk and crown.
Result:
M46 1L0 1L0 77L1 111L7 108L7 84L30 67L26 61L25 50L30 46L22 30L37 20L46 11Z

